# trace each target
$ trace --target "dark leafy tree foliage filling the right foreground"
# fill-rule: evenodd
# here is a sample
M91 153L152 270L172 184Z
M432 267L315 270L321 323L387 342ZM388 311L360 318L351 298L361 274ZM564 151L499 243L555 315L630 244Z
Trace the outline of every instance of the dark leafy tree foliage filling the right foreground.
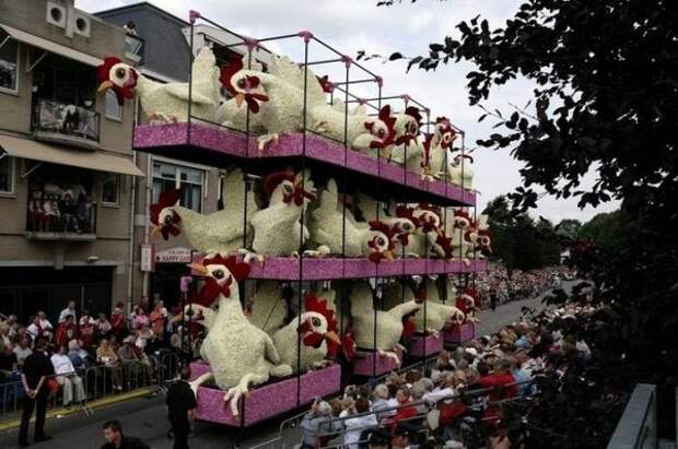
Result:
M496 126L478 143L511 149L524 164L523 186L508 196L514 208L536 206L537 188L576 197L582 206L621 200L620 212L583 226L593 240L574 245L572 262L593 281L594 300L606 305L589 334L606 362L599 386L630 391L635 382L657 383L661 406L673 401L678 373L677 10L674 0L526 0L500 27L482 17L464 21L459 38L447 36L409 58L423 70L474 63L470 105L518 76L536 83L524 108L480 117ZM585 188L582 179L592 169L597 180ZM593 403L604 391L572 398L572 406ZM585 423L589 412L580 412ZM662 407L659 418L674 427ZM593 432L543 425L573 440Z

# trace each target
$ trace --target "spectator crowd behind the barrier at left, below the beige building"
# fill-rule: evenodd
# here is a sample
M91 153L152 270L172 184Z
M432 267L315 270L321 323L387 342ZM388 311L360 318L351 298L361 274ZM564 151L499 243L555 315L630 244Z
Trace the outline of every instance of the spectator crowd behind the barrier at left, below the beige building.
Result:
M87 310L79 311L75 302L70 302L56 324L44 311L31 317L26 326L14 315L2 317L0 387L4 388L0 388L0 394L8 397L21 381L24 362L36 351L38 340L47 343L51 362L47 386L52 395L59 394L65 406L83 403L87 393L83 378L90 373L97 371L107 383L103 388L114 393L149 385L165 354L175 354L178 359L180 308L168 311L162 300L156 300L150 314L140 306L129 315L124 309L124 304L118 303L110 317L92 316Z

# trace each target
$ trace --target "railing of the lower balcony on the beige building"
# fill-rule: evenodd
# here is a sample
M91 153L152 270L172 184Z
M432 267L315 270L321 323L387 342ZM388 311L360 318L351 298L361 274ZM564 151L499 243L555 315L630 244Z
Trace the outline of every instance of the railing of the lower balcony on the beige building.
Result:
M66 201L58 194L33 193L26 209L26 237L34 240L96 239L96 204Z

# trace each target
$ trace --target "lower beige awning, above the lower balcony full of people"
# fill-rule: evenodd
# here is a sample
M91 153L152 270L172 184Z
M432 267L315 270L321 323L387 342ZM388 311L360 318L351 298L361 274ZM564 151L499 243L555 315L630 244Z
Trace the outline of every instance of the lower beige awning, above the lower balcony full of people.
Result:
M101 151L70 150L31 139L0 134L0 147L8 155L70 165L91 170L119 173L120 175L144 176L129 157L114 156Z

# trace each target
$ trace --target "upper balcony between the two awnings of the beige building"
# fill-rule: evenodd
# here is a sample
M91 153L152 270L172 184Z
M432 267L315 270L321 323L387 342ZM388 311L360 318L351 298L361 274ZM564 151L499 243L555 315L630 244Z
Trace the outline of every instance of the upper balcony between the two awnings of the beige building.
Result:
M33 110L33 135L36 140L97 150L100 127L98 113L74 105L39 99Z

